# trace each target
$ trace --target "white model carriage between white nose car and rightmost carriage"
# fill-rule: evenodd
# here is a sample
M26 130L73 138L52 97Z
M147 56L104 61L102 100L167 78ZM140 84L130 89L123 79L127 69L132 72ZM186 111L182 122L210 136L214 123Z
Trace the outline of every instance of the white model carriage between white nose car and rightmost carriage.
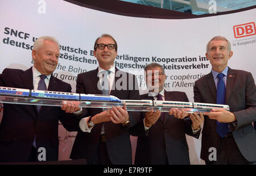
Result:
M154 106L170 108L193 108L192 102L154 100Z

